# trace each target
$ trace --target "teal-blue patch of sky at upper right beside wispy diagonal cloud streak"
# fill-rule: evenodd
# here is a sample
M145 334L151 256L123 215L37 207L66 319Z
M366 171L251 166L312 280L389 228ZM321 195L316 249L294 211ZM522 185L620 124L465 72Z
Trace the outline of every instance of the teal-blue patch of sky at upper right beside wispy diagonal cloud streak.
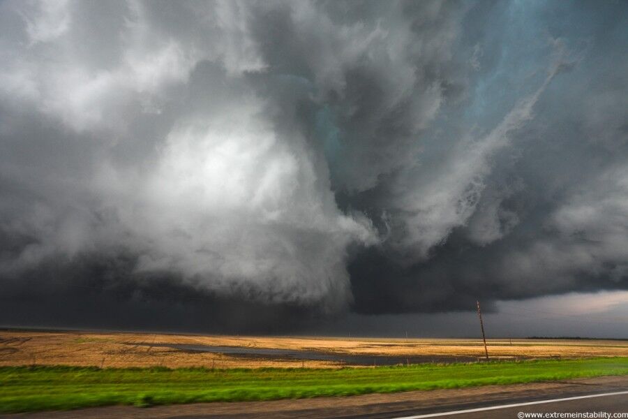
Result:
M422 136L419 160L425 170L467 133L474 138L490 132L544 82L553 57L546 24L539 19L543 7L540 1L512 1L492 11L491 24L477 39L483 50L480 68L468 64L468 100L462 108L445 105ZM470 56L468 43L460 47L458 56Z

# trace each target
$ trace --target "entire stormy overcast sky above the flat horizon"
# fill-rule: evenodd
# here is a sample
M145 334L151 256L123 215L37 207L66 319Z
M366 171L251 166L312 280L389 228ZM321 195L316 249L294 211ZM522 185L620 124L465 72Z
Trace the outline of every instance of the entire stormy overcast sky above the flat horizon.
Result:
M0 324L627 337L627 51L625 1L0 1Z

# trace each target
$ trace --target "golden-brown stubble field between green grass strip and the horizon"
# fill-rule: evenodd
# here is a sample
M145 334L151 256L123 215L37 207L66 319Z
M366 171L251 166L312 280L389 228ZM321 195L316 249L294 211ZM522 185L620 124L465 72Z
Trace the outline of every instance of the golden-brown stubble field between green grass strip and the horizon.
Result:
M290 359L190 351L160 344L275 348L337 355L337 360ZM628 341L491 339L491 358L628 356ZM481 339L374 339L244 337L150 333L35 332L0 330L0 366L94 365L97 367L341 367L343 357L469 361L484 357ZM369 358L371 357L371 358ZM381 358L377 358L381 357ZM392 359L392 358L391 358ZM417 361L419 360L419 361Z

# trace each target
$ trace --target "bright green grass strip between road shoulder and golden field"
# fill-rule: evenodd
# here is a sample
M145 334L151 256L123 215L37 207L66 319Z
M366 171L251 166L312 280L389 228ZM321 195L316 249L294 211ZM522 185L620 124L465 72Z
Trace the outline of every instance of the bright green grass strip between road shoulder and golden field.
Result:
M0 367L0 412L236 402L628 374L628 358L344 369Z

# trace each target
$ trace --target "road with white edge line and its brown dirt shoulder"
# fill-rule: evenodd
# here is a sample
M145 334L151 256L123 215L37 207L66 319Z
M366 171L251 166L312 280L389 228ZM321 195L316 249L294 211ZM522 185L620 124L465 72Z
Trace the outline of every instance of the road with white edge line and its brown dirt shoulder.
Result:
M522 412L587 412L608 411L628 413L628 395L591 397L564 402L532 404L507 409L443 414L451 411L483 409L504 404L539 402L548 399L599 395L628 391L628 376L583 378L552 383L488 385L458 390L401 392L389 395L354 397L321 397L317 399L276 400L273 402L209 403L179 406L158 406L140 409L131 406L110 406L69 412L43 412L11 415L6 418L29 419L294 419L345 418L379 419L404 417L517 418ZM438 416L433 416L438 414Z

